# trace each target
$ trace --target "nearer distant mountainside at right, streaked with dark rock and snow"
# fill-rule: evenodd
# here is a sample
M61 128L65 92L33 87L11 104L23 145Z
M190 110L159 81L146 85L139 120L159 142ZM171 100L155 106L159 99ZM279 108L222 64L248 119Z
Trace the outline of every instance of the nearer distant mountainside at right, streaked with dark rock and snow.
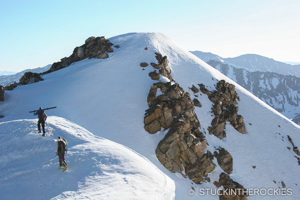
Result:
M300 77L275 72L249 72L215 60L207 63L286 117L294 118L300 113Z

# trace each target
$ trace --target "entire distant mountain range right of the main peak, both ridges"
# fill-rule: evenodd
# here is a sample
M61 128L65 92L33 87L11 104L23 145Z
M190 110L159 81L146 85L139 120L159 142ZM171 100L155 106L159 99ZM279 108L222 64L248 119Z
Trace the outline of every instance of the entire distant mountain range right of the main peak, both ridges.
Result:
M300 124L298 117L296 117L300 113L300 107L298 107L300 103L300 77L274 72L281 70L284 66L283 62L255 54L222 58L218 55L201 51L192 51L192 53L243 86L287 118L294 118L293 121ZM229 61L235 65L227 64L230 63ZM245 68L249 67L249 63L251 63L251 67L246 70ZM263 67L261 67L262 63ZM237 64L239 65L237 66ZM278 67L274 67L275 65ZM287 65L287 67L290 66L292 65ZM297 65L294 65L294 67L297 67ZM300 66L298 67L300 68ZM254 70L258 68L274 71ZM296 71L294 70L294 72Z

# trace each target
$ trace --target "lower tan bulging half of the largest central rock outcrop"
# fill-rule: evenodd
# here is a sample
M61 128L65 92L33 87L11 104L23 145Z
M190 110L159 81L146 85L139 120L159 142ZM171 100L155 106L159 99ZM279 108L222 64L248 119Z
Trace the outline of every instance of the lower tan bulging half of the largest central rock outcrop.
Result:
M200 178L201 175L207 176L205 171L210 172L210 169L206 167L211 168L210 164L213 162L206 161L207 157L203 156L204 151L205 148L200 139L192 134L190 123L182 120L174 122L155 150L158 160L168 170L181 173L185 167L185 172L188 171L186 174L190 176L189 178ZM205 164L199 166L199 163L202 162ZM206 163L210 164L207 165ZM186 171L186 169L188 170Z

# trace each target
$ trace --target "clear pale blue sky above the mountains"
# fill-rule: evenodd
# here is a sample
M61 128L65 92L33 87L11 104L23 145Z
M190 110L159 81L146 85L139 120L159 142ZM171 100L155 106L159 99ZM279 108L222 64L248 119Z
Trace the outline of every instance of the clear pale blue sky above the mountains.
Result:
M187 50L300 61L299 0L0 0L0 70L69 56L89 36L163 32Z

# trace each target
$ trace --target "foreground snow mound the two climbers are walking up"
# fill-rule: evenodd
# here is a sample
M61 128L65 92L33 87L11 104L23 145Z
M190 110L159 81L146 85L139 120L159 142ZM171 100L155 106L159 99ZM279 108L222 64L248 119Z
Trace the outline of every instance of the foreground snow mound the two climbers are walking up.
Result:
M0 123L1 199L172 199L174 182L131 149L50 116L41 137L35 119ZM56 139L68 140L66 171L58 169Z

